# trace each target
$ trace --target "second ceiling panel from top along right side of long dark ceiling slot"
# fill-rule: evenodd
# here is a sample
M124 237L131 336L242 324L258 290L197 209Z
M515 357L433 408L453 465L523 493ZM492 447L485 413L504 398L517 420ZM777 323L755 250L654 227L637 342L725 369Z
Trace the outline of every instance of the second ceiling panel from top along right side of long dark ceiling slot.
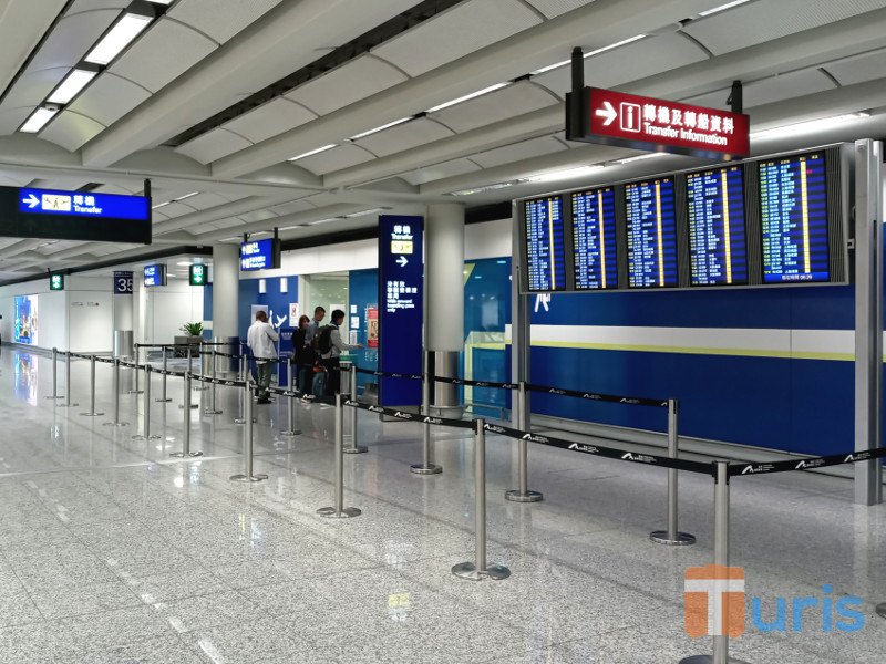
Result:
M326 115L403 81L406 76L387 62L361 55L286 96L305 104L318 115Z

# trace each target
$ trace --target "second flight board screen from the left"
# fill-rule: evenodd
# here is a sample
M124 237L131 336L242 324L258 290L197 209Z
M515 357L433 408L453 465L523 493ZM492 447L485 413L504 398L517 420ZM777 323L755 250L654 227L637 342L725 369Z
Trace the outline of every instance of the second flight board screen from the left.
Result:
M573 246L576 290L618 288L612 187L573 194Z

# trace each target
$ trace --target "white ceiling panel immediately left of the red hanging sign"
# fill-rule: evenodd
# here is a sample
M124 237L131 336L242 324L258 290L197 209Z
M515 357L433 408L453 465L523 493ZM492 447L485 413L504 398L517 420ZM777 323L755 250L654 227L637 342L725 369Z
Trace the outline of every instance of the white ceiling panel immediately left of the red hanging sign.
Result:
M515 85L443 108L429 117L439 120L447 127L462 133L557 103L559 102L554 95L544 87L521 81Z

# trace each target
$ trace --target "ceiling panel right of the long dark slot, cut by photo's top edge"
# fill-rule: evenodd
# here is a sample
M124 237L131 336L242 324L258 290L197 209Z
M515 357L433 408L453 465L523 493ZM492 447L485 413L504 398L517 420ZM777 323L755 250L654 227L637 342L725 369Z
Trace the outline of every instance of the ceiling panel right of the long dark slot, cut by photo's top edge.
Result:
M518 0L462 2L372 51L410 76L439 68L542 22Z

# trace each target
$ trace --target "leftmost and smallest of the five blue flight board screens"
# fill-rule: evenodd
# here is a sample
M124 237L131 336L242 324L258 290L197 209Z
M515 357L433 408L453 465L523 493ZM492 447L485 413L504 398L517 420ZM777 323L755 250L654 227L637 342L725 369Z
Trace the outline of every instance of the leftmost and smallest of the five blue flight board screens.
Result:
M563 197L526 200L526 257L530 291L566 289Z

